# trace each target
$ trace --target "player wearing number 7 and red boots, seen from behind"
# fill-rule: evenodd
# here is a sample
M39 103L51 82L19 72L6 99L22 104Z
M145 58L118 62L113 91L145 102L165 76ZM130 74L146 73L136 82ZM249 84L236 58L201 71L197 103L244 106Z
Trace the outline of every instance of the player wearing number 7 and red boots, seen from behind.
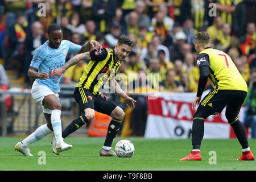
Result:
M194 44L198 54L196 60L200 68L200 78L196 98L192 103L193 109L200 104L193 115L193 149L188 156L180 160L201 160L200 146L204 136L204 121L209 115L221 113L225 106L226 118L242 146L242 155L237 160L254 160L245 128L237 117L247 94L245 80L225 52L210 48L210 37L207 32L197 33ZM212 92L201 100L208 77L215 86Z

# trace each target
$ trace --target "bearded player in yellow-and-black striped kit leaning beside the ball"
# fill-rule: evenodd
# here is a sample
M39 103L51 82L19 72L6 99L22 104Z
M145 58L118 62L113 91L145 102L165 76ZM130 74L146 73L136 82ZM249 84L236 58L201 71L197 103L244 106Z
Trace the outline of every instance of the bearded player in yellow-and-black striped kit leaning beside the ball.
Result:
M123 98L127 106L135 106L136 101L127 96L114 79L114 75L121 65L120 60L124 60L133 47L135 47L135 45L129 37L120 36L114 49L94 49L90 52L81 53L70 59L63 67L54 69L53 72L50 73L49 76L57 76L57 80L63 72L72 65L75 65L81 60L89 61L74 91L75 100L79 104L81 112L84 114L74 119L72 123L69 124L63 131L63 138L92 120L94 118L94 110L96 110L112 117L104 146L102 146L100 150L100 155L116 156L111 146L115 135L122 125L125 113L114 101L102 94L100 88L102 88L105 82L109 82L109 85L115 89L115 93L118 93L119 96ZM59 155L55 150L55 146L55 140L53 139L52 150L55 154Z

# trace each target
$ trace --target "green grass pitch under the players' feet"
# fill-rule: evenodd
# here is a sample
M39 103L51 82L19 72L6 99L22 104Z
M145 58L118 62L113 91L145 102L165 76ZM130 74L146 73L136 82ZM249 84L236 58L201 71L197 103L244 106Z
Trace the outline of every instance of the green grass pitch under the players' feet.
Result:
M145 139L145 138L115 138L115 143L121 139L129 139L134 143L135 152L131 158L101 157L100 148L105 138L69 137L65 142L73 148L57 156L52 153L51 140L47 137L30 146L32 157L23 156L14 151L14 145L23 138L0 137L0 170L82 170L82 171L255 171L254 161L236 161L242 150L237 139L204 139L201 146L201 161L179 161L191 151L191 139ZM251 151L256 154L256 140L249 139ZM40 151L46 154L46 164ZM216 152L216 164L209 155Z

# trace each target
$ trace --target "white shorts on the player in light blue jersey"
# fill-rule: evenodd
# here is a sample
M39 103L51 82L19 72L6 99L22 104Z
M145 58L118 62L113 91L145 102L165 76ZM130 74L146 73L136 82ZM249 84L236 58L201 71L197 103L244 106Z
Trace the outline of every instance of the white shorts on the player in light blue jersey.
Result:
M43 113L52 114L52 110L43 106L44 97L48 96L49 94L54 94L59 99L59 94L57 92L52 92L45 85L39 85L36 80L34 81L32 88L31 88L31 95L36 102L39 102L42 105ZM59 99L60 100L60 99Z

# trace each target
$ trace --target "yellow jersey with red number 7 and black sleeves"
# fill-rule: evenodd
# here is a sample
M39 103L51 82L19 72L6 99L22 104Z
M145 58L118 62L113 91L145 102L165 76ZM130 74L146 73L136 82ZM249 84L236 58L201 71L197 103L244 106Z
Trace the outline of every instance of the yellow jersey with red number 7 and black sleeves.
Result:
M243 90L247 92L247 84L232 59L223 51L205 48L197 55L197 65L209 67L209 78L216 89Z

